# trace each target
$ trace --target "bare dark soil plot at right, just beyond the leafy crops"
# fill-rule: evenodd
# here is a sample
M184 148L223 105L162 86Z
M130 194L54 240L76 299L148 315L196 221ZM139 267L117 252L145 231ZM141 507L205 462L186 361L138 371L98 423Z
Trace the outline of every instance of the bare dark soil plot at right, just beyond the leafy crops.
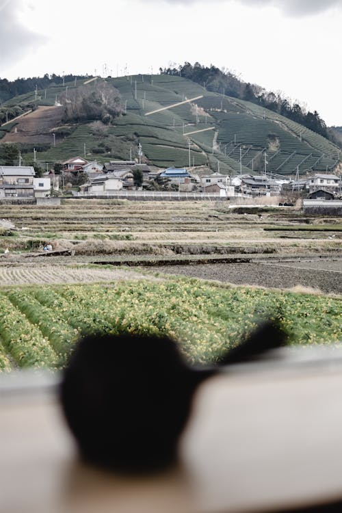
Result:
M301 286L326 293L342 294L342 261L333 261L332 265L330 261L326 261L324 266L322 262L319 264L321 267L313 267L315 270L308 268L310 263L306 262L304 269L296 263L215 263L157 266L153 267L153 271L218 280L235 285L258 285L276 289Z

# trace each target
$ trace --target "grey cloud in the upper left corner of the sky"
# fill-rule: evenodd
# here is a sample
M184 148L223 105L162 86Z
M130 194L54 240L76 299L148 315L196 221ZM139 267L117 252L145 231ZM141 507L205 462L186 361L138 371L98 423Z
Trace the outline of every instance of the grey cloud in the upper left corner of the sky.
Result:
M23 0L0 0L0 73L17 64L45 41L20 21Z

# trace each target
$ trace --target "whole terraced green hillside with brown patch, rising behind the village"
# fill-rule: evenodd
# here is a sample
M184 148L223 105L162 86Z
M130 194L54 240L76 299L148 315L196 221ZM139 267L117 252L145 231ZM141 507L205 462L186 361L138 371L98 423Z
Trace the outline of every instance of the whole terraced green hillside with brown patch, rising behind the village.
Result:
M107 105L110 88L120 95L121 107L116 106L115 112L109 112ZM66 116L80 91L94 96L94 103L101 104L101 115L87 111L84 119ZM163 109L198 96L202 97ZM56 102L63 105L64 116L60 116L61 107L54 107ZM0 137L2 142L25 143L22 153L29 153L24 158L31 159L31 151L38 146L37 159L44 168L47 162L85 153L87 159L98 161L128 159L130 153L138 158L139 144L142 161L159 167L207 165L226 173L261 172L265 153L267 172L274 174L332 172L339 164L340 148L321 135L274 111L208 92L174 75L107 78L105 84L103 79L70 82L64 88L59 85L16 96L1 107L25 111L30 105L51 106L53 122L49 124L47 111L38 108L2 125ZM151 111L156 112L148 115Z

